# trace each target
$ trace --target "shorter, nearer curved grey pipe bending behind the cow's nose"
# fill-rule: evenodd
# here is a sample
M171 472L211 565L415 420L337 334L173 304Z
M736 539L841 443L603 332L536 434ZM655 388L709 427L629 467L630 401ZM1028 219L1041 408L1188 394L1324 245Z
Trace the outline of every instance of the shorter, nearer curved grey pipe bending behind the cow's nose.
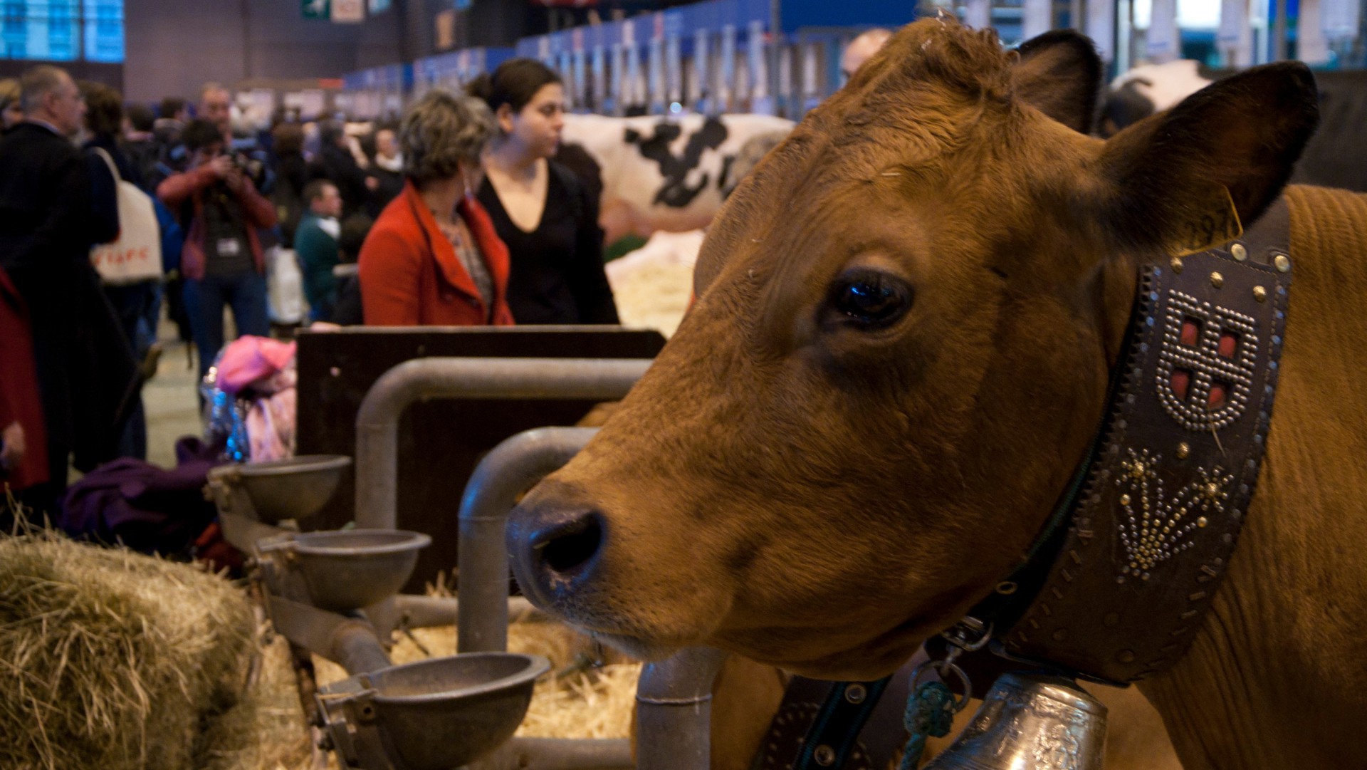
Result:
M597 428L521 432L480 461L461 498L458 652L502 652L509 632L509 551L503 532L519 495L570 461Z

